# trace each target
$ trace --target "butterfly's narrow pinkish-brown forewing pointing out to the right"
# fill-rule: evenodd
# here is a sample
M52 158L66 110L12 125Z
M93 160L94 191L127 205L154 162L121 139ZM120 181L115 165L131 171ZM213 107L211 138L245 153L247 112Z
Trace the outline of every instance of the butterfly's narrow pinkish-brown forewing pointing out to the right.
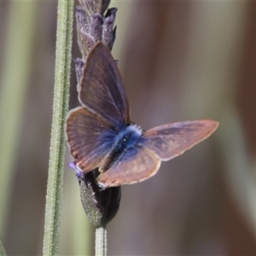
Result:
M213 120L195 120L160 125L146 131L142 144L161 160L171 160L209 137L218 127Z

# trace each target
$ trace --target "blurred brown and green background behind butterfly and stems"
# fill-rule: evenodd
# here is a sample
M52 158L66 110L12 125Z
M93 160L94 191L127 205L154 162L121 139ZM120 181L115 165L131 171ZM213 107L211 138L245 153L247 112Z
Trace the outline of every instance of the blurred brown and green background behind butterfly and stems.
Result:
M113 56L132 120L144 130L188 119L220 126L156 176L122 187L108 254L256 255L256 3L111 6L119 9ZM56 1L0 2L0 240L8 255L42 254L56 11ZM74 65L70 95L74 108ZM61 255L94 253L79 200L67 167Z

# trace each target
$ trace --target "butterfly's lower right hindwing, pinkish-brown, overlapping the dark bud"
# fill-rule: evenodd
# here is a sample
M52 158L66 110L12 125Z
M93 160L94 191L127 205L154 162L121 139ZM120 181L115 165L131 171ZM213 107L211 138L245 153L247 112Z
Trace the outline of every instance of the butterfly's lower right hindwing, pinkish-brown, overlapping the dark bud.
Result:
M139 183L152 177L160 168L160 159L148 148L132 147L97 177L102 188Z

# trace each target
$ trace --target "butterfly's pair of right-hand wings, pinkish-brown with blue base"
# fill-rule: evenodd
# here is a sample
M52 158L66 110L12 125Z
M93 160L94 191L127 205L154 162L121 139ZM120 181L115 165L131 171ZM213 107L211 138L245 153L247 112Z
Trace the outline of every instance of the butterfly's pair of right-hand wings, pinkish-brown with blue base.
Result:
M160 168L161 160L171 160L209 137L218 127L212 120L195 120L160 125L145 132L108 171L97 177L103 187L142 182Z

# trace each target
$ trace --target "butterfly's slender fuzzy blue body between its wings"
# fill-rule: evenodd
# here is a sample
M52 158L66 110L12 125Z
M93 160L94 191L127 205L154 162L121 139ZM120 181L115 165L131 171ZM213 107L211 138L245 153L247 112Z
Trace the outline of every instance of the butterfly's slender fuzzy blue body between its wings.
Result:
M115 137L113 147L107 156L102 160L100 172L106 172L119 160L129 148L132 148L142 137L143 131L137 125L128 125L125 129L119 131Z

